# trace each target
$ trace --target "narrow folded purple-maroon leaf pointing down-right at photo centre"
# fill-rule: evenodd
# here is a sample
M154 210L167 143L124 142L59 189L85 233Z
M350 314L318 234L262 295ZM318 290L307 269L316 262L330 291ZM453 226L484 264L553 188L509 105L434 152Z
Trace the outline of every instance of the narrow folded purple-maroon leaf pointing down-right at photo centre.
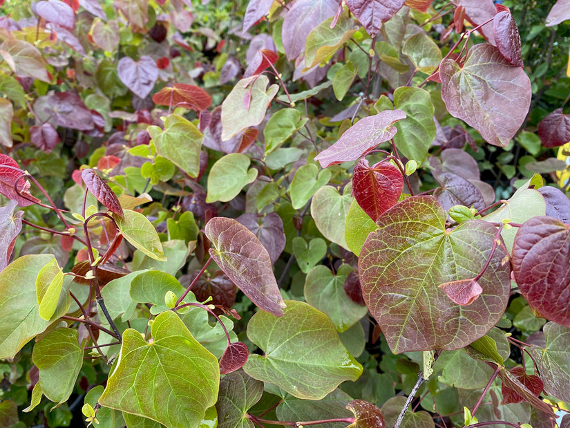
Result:
M258 308L281 317L283 297L269 254L247 227L233 218L214 217L205 227L213 248L209 253L224 273Z

